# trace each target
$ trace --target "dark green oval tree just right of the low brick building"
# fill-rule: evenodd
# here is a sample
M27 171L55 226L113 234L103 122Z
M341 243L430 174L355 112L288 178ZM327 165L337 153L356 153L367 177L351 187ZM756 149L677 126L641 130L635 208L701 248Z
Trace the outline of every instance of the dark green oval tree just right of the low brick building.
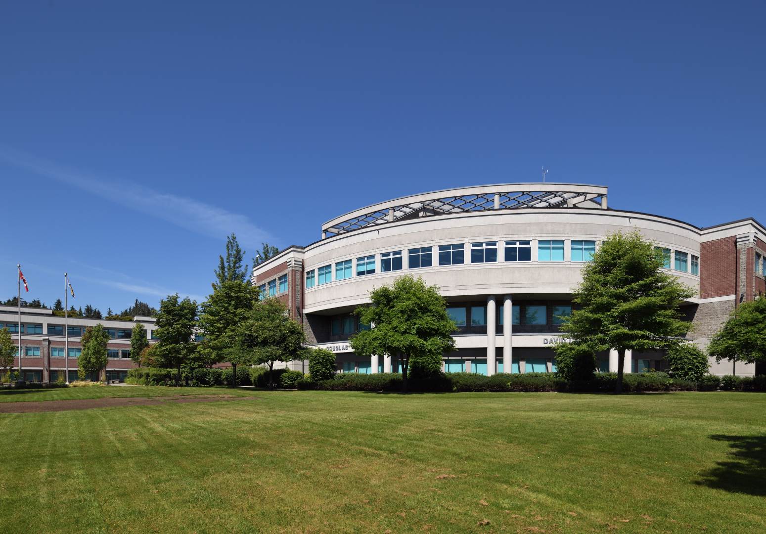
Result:
M178 299L178 293L169 295L159 303L156 344L159 361L163 367L176 369L175 385L181 382L181 366L191 358L196 346L191 341L197 324L197 303L186 297Z

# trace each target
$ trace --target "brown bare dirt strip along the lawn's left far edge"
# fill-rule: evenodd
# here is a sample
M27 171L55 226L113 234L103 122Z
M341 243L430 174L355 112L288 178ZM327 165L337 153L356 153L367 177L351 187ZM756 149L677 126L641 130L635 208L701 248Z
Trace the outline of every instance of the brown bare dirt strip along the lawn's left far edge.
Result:
M175 395L172 397L106 397L77 398L67 401L29 401L2 402L0 414L21 414L31 411L66 411L87 410L90 408L113 408L115 406L156 406L167 402L184 404L187 402L216 402L235 400L255 400L254 397L235 395Z

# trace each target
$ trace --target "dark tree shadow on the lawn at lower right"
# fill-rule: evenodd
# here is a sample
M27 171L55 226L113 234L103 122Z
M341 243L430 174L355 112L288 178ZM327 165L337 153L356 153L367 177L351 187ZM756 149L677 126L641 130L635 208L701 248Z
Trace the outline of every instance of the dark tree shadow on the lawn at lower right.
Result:
M728 441L729 459L702 473L702 486L732 493L766 496L766 436L726 436L713 434L710 439Z

